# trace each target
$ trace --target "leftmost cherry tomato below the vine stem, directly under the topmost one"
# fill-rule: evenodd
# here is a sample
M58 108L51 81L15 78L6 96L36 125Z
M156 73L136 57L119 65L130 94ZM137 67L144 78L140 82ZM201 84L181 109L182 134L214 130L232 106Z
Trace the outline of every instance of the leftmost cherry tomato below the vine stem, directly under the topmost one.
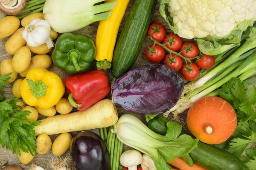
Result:
M155 53L153 53L153 51L155 51ZM160 45L155 44L154 48L153 48L153 45L150 45L149 48L146 50L146 59L150 62L158 63L162 61L164 56L165 56L165 50Z

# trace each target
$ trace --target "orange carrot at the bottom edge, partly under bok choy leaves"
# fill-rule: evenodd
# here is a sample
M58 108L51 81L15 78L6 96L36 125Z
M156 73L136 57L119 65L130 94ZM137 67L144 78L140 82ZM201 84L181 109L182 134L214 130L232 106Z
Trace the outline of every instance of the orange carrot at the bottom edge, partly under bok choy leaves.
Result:
M193 163L194 165L193 167L189 167L189 164L186 161L184 161L182 158L176 158L174 161L167 162L167 163L179 168L180 170L206 170L205 168L195 163Z

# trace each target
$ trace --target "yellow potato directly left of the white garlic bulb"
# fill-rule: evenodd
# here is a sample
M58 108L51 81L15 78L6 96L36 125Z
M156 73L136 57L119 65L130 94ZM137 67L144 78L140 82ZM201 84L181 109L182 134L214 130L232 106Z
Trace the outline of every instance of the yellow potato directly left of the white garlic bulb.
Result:
M18 49L26 45L26 40L22 37L24 28L19 28L12 36L6 41L5 49L8 54L14 55Z

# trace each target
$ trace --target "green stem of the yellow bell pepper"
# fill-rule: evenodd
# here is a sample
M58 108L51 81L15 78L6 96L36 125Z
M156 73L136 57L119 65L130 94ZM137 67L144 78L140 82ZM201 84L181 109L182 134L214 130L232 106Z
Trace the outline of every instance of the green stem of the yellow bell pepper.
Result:
M47 86L41 80L33 82L30 79L26 79L26 81L29 84L30 91L37 99L45 95Z

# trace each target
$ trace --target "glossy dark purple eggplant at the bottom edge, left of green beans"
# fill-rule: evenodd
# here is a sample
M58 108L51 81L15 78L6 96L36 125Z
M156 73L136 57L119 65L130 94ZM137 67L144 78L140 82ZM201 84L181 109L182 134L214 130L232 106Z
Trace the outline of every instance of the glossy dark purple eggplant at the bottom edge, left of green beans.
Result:
M70 153L76 170L111 170L107 146L96 133L76 133Z

